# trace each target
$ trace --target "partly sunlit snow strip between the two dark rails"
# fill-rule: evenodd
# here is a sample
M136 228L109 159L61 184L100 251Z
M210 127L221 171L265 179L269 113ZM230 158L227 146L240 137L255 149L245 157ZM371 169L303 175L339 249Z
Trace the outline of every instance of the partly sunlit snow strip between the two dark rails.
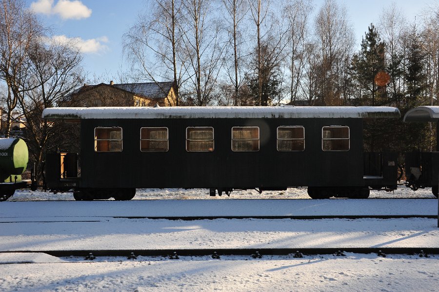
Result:
M429 218L30 219L0 223L0 251L439 248L437 219Z

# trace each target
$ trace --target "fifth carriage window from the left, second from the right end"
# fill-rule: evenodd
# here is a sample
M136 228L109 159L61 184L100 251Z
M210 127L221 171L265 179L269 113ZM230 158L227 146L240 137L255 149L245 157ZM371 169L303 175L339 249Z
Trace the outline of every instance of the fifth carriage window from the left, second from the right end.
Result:
M304 151L305 128L300 126L278 127L278 151Z

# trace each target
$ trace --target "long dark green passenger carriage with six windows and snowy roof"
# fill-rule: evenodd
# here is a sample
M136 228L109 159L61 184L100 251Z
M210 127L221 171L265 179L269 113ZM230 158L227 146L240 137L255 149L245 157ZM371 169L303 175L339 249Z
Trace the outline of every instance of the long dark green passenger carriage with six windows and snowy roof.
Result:
M397 108L48 108L42 117L80 123L80 154L45 163L47 187L78 200L128 200L136 188L307 187L312 198L397 188L397 154L363 153L362 139L364 119L400 117Z

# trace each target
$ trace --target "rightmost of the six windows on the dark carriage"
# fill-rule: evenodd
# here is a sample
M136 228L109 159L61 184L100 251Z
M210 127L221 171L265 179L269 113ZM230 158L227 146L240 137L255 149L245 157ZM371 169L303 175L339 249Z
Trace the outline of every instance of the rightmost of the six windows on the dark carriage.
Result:
M348 151L349 147L349 127L329 126L321 129L323 151Z

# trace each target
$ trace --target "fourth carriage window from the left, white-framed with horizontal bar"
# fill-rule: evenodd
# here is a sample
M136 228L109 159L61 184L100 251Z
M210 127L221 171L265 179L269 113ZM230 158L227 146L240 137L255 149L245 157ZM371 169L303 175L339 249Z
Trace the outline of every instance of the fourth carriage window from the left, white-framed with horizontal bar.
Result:
M259 151L259 127L233 127L232 151Z

